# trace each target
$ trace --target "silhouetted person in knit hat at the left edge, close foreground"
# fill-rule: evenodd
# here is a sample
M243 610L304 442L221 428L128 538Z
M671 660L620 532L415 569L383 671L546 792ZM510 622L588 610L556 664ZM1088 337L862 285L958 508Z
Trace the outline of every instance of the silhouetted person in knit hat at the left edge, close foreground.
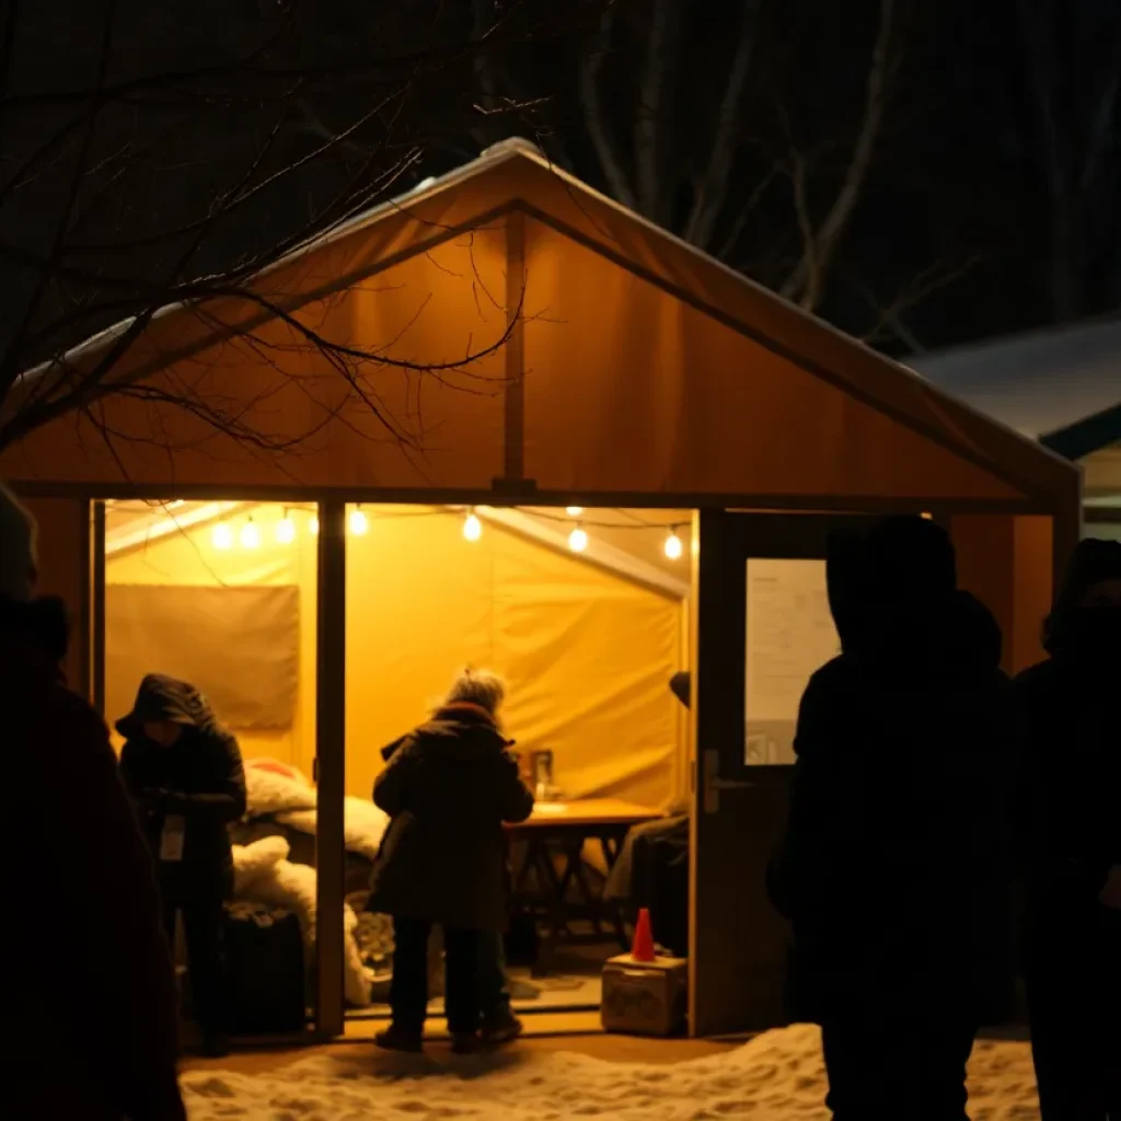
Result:
M35 583L35 524L0 487L6 1115L183 1121L151 860L109 731L58 668L65 608Z

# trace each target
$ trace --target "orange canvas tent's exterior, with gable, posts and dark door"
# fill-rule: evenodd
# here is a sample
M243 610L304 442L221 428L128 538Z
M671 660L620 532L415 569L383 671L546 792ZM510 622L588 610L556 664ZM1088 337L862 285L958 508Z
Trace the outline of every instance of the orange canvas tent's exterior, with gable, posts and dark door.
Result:
M65 372L90 369L122 330L67 355ZM362 358L350 379L309 335ZM31 371L20 391L58 374L57 364ZM103 700L99 500L318 503L314 726L328 852L341 851L342 824L323 807L341 804L345 781L345 502L695 511L698 1032L780 1015L785 934L761 873L788 768L747 765L745 564L821 566L831 519L928 512L953 532L962 581L1001 621L1016 668L1038 655L1056 563L1078 531L1071 464L522 141L333 231L243 291L165 309L111 381L120 392L0 456L58 548L46 554L45 585L85 626L76 679ZM177 406L185 396L221 404L239 430ZM16 393L6 408L19 407ZM339 876L321 869L324 923ZM341 1027L339 944L325 926L326 1032Z

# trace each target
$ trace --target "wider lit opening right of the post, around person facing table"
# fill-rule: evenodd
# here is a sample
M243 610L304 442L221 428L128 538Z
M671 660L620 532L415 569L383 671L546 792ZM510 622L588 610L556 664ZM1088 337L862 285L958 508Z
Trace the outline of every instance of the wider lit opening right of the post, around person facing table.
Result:
M687 712L670 679L688 664L692 515L352 504L346 529L346 887L371 975L351 1017L386 1017L392 976L391 923L365 910L358 822L382 749L469 666L504 679L503 730L537 795L508 832L512 1008L597 1009L603 963L629 945L626 837L685 809ZM684 953L684 855L679 870L679 923L663 933ZM433 1015L442 994L437 933Z

